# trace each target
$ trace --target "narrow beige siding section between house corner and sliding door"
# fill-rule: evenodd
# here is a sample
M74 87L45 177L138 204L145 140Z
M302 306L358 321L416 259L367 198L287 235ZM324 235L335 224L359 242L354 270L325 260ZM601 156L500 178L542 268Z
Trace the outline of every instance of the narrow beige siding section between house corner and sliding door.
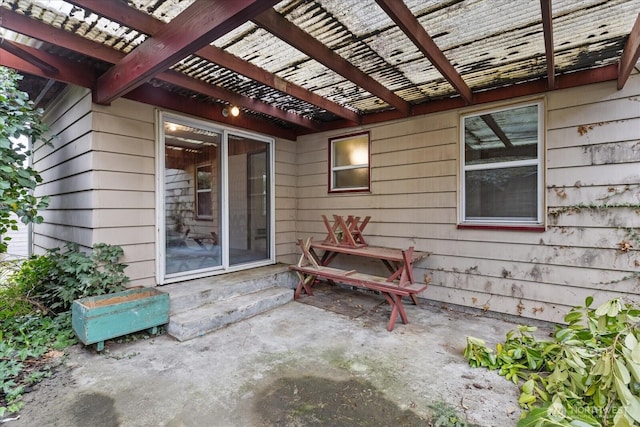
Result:
M94 104L92 140L94 236L122 246L132 285L155 285L153 107L126 99Z

